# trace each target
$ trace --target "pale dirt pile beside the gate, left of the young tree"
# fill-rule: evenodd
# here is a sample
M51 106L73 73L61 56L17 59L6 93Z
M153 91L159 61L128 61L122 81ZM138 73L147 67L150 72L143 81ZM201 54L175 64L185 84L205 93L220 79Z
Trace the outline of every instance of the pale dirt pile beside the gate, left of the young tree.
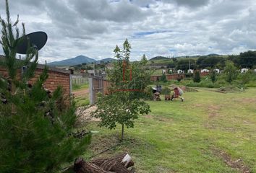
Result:
M99 118L92 117L90 114L97 109L96 106L91 107L78 107L75 112L78 117L79 123L87 123L91 121L101 121Z

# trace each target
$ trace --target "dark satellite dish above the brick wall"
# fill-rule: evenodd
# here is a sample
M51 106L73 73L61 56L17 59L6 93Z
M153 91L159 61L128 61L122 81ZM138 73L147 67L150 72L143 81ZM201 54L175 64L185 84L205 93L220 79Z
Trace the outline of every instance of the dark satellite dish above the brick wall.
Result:
M27 46L30 43L30 46L33 46L37 50L43 48L46 45L47 35L46 32L38 31L32 32L28 35L24 35L20 37L22 39L22 43L17 46L17 53L26 54L27 53Z

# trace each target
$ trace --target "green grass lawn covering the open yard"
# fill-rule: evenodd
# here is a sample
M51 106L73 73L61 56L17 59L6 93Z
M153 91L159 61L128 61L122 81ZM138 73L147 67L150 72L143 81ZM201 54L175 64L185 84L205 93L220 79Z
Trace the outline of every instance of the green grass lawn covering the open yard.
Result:
M152 112L124 130L126 140L96 157L127 151L143 173L239 172L232 167L256 172L256 89L229 94L199 89L184 98L148 102ZM97 124L85 125L99 131L93 133L87 158L119 143L120 126L108 130Z

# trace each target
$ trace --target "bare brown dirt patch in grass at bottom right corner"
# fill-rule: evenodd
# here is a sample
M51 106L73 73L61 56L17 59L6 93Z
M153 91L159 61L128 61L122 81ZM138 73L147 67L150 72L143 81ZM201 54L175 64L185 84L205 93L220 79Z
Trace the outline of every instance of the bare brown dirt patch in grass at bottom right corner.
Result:
M249 168L244 165L242 159L232 159L229 154L218 148L213 148L213 154L223 159L223 161L231 168L234 168L242 173L249 173Z

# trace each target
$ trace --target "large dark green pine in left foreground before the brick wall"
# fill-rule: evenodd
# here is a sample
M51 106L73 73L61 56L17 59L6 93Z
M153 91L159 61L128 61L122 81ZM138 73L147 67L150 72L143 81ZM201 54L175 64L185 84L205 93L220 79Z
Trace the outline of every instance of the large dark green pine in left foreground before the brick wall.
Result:
M63 107L66 101L61 87L49 97L43 89L46 67L33 86L27 85L38 64L38 51L30 47L26 58L17 60L17 45L22 41L18 40L18 19L12 25L7 0L6 7L7 20L0 18L5 56L0 65L8 72L0 76L0 172L57 172L85 151L90 135L72 135L74 104ZM25 35L25 25L22 27ZM23 66L27 70L17 78Z

